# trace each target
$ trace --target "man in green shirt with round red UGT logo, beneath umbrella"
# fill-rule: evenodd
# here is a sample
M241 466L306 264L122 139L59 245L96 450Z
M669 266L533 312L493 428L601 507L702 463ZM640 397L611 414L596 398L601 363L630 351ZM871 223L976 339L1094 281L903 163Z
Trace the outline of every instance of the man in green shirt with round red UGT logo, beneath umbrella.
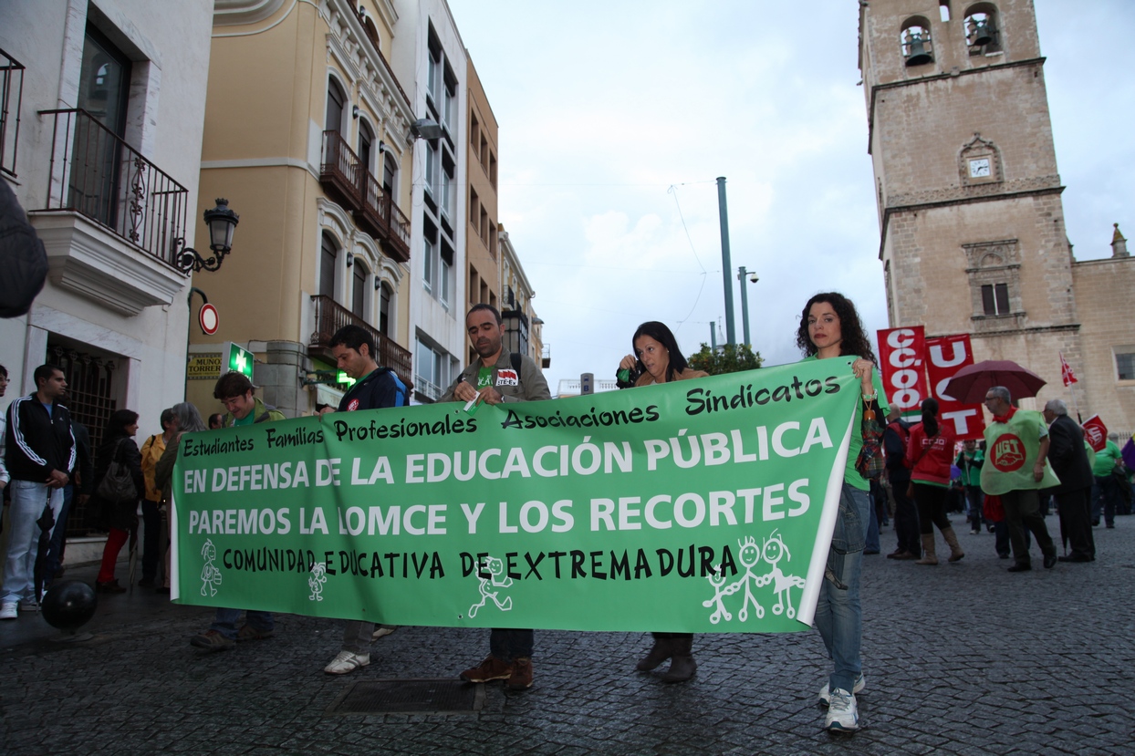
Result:
M1044 568L1051 569L1057 563L1057 547L1041 514L1040 490L1059 485L1060 479L1048 462L1049 426L1040 412L1015 408L1004 386L985 392L985 409L993 414L993 421L985 427L982 490L1001 497L1012 544L1014 565L1009 572L1033 569L1025 528L1044 554Z

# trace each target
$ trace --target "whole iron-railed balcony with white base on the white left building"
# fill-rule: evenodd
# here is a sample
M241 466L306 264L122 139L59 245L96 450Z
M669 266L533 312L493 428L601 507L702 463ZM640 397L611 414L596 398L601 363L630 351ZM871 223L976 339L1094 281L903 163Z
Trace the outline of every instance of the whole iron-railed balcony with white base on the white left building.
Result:
M52 282L125 314L171 303L188 190L85 110L40 116L52 121L48 198L30 215Z

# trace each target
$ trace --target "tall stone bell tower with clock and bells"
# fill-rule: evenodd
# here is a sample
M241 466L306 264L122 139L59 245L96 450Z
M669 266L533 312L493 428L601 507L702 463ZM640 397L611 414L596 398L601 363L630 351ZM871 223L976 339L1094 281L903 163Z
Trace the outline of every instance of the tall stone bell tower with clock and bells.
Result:
M859 68L891 326L1058 395L1079 322L1032 0L859 0Z

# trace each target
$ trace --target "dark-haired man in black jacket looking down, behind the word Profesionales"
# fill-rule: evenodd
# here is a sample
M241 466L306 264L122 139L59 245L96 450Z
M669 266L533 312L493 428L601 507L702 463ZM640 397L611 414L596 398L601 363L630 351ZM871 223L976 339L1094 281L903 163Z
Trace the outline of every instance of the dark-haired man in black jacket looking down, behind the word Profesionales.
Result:
M379 410L407 404L410 390L393 370L378 367L375 339L365 328L344 326L331 336L329 346L339 370L356 380L339 402L339 412ZM395 629L395 625L384 624L376 632L373 622L347 620L343 629L343 647L323 667L323 672L346 674L360 666L367 666L370 664L370 641L373 637L381 637Z

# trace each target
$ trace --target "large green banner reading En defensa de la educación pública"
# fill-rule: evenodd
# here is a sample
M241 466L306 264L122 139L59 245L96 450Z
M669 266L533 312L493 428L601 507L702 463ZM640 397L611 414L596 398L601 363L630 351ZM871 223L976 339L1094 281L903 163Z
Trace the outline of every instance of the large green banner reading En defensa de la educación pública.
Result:
M182 439L176 600L392 624L806 629L850 361Z

